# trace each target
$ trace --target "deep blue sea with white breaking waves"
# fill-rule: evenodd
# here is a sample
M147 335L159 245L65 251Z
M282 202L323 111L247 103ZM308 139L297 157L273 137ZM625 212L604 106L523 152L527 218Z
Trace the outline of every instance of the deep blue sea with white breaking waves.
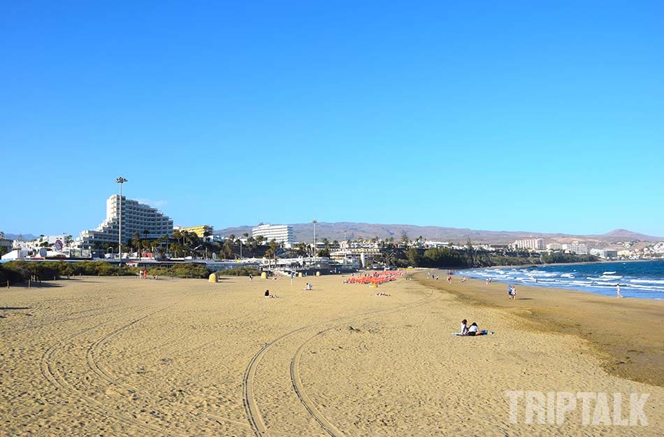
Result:
M517 285L577 289L607 296L616 296L616 284L620 284L620 292L625 297L664 299L664 260L475 268L456 274Z

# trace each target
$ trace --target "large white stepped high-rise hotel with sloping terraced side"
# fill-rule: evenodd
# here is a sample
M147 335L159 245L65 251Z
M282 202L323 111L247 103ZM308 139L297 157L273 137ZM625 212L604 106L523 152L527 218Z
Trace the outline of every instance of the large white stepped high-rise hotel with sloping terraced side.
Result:
M78 248L92 248L94 245L109 243L117 244L120 222L120 206L122 206L122 242L127 243L135 232L140 238L159 238L164 235L173 236L173 220L161 213L157 208L135 200L113 194L106 201L106 220L99 227L82 231L74 245ZM145 233L147 231L147 234Z

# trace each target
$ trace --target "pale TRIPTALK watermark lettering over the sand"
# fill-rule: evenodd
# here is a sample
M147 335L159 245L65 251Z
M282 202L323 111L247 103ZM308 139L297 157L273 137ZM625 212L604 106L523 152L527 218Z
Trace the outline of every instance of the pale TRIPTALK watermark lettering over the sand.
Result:
M510 401L510 423L561 425L575 412L584 425L647 427L644 406L650 396L605 392L505 392Z

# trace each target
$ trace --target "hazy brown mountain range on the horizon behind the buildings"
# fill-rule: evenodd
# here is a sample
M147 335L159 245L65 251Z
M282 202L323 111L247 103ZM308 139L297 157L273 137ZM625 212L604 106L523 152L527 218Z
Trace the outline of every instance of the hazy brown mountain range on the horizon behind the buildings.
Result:
M292 224L296 241L310 241L313 239L314 228L312 223ZM251 235L251 226L229 227L219 229L214 232L215 235L229 236L234 234L236 237L247 233ZM618 241L664 241L664 237L649 236L626 229L616 229L602 235L573 235L573 234L546 234L534 231L478 231L474 229L460 229L438 226L415 226L413 224L371 224L354 222L319 222L316 224L316 239L327 238L330 241L342 241L344 232L349 239L358 238L389 238L394 237L400 240L401 234L405 231L409 238L414 239L419 236L427 240L445 241L452 243L465 244L470 237L471 241L476 243L506 244L518 238L528 236L542 237L545 243L570 243L572 241L581 241L595 245L611 244Z

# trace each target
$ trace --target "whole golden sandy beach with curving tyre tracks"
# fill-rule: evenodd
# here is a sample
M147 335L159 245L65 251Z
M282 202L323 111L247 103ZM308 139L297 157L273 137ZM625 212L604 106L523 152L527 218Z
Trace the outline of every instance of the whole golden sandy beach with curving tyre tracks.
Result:
M440 276L380 297L338 275L1 289L2 434L664 434L661 302L526 287L507 301L506 285ZM496 334L451 335L463 318ZM649 394L648 425L585 425L580 407L561 424L526 423L521 407L512 423L509 391Z

